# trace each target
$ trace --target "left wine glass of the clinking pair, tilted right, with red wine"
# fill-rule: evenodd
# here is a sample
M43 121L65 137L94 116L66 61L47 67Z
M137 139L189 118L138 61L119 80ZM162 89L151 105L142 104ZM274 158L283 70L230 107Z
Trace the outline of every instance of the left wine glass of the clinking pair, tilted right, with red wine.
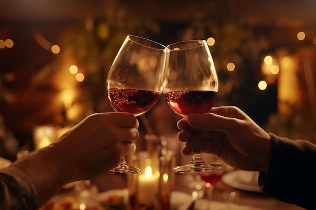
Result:
M128 35L107 77L108 98L116 112L135 116L151 109L163 92L167 47L151 40ZM141 173L122 157L112 171Z

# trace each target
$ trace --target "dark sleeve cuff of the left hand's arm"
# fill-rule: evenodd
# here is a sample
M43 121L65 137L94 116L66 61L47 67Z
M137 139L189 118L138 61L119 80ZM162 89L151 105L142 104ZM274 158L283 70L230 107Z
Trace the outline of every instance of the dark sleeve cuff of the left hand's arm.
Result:
M36 210L37 195L33 183L16 167L0 170L0 210Z

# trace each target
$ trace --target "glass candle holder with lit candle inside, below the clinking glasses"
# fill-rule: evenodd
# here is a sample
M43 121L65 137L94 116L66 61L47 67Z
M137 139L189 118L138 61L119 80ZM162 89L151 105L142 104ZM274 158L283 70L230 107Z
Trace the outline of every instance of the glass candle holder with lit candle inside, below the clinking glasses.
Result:
M133 156L141 174L128 175L128 209L169 210L173 189L175 159L166 150L164 136L145 135L146 151Z

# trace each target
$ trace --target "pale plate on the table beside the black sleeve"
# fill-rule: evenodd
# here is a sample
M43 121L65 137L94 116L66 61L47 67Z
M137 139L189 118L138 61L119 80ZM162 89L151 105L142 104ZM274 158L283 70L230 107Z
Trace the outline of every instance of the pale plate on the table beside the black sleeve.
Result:
M236 170L224 174L222 180L225 184L236 189L261 192L257 183L257 175L258 172Z

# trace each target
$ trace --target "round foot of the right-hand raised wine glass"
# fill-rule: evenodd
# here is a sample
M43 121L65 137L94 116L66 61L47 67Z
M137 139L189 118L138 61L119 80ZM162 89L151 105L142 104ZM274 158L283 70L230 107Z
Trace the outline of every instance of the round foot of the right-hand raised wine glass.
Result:
M178 173L190 173L190 172L202 172L202 171L211 171L221 169L221 164L212 164L212 163L188 163L184 166L176 166L173 168L173 171Z

